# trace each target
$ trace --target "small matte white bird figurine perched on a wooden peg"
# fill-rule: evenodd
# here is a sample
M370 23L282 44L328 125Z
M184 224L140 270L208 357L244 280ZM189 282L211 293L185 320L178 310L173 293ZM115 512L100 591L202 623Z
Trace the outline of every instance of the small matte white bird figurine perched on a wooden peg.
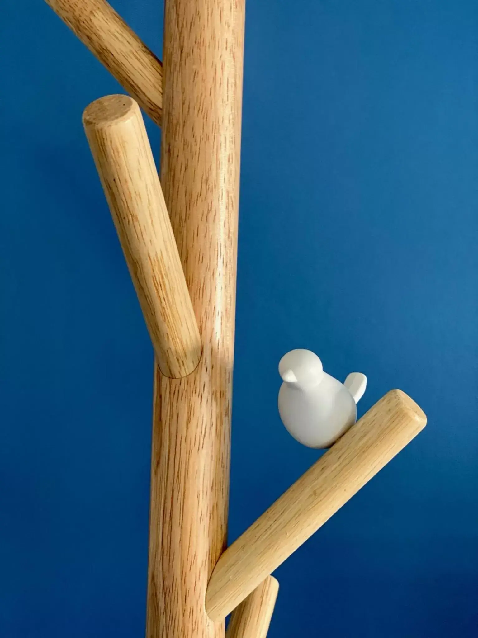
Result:
M287 431L307 447L330 447L357 420L367 378L352 372L344 383L327 375L310 350L291 350L279 363L279 413Z

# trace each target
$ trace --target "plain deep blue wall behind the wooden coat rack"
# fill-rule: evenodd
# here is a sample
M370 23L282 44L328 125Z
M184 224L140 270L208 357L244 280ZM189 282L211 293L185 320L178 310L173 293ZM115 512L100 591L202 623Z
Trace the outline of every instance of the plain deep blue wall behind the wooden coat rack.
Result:
M161 2L113 4L160 55ZM0 635L137 638L153 354L81 125L121 89L41 1L0 29ZM478 635L477 45L473 0L248 0L230 540L318 456L290 348L429 418L277 570L271 638Z

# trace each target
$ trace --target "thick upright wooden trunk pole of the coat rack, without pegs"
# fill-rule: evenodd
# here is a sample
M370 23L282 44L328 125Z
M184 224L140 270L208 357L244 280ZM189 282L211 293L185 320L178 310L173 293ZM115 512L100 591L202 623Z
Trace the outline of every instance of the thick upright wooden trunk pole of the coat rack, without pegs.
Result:
M156 369L147 638L224 638L205 613L227 537L244 0L166 0L161 184L197 316L197 369Z

